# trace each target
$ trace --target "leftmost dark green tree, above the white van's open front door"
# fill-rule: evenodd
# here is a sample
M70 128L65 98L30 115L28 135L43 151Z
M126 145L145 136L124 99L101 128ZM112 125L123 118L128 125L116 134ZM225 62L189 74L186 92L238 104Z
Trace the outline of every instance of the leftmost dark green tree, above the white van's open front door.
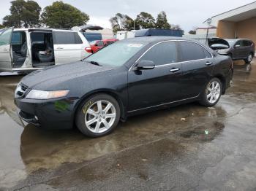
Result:
M34 27L39 26L41 7L36 1L11 1L10 15L3 18L4 26Z

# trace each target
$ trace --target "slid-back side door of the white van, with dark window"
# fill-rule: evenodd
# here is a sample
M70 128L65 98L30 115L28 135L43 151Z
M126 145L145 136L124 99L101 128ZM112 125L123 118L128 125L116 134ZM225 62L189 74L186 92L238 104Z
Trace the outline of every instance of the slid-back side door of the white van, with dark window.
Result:
M82 59L83 41L75 31L53 31L55 63L71 63Z

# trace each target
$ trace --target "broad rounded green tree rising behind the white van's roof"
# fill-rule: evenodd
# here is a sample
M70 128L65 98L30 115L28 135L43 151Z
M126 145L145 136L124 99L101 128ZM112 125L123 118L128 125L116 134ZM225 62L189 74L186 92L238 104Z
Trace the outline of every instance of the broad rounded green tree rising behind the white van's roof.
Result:
M86 25L89 15L63 1L55 1L42 12L42 23L52 28L72 28Z

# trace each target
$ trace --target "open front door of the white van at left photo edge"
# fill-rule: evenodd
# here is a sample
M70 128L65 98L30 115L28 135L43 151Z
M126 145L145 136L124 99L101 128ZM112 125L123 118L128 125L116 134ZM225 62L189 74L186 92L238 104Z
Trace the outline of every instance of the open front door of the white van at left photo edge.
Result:
M0 34L0 72L12 71L11 39L12 28L6 28Z

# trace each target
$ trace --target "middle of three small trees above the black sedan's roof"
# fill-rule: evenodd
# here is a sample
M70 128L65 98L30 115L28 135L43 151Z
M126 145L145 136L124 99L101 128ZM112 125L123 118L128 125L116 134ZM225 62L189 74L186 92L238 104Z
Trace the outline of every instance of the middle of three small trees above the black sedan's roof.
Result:
M155 27L155 19L148 12L140 12L140 14L137 15L135 24L138 26L138 29L154 28Z

